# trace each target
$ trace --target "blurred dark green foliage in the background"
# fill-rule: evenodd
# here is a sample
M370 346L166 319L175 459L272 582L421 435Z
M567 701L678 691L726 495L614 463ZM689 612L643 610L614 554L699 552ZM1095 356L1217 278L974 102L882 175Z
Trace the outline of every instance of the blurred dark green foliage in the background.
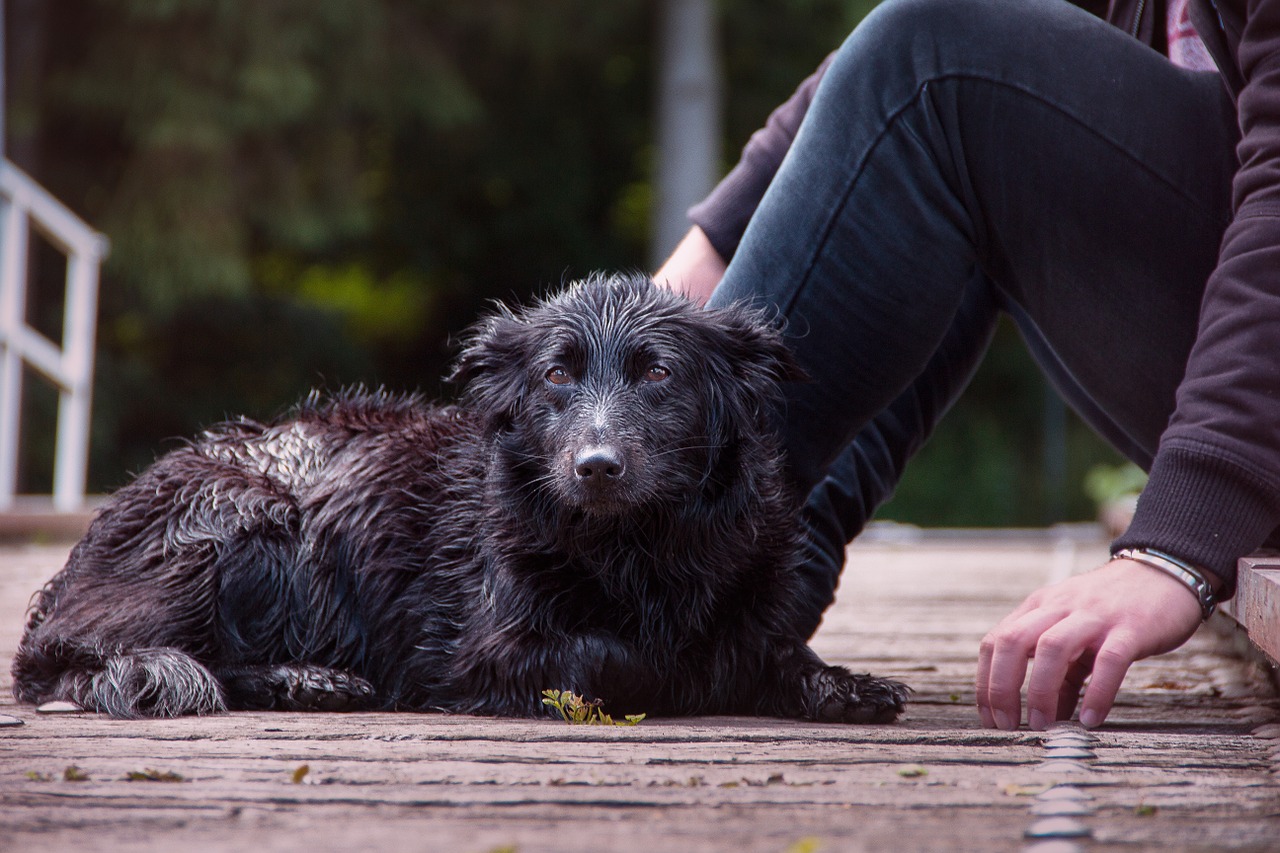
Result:
M874 0L721 0L724 165ZM458 333L645 256L648 0L9 0L8 154L111 240L91 488L314 386L442 393ZM58 327L56 261L31 311ZM1046 520L1043 386L1002 333L887 510ZM52 397L28 407L51 423ZM22 485L47 491L51 429ZM1111 460L1069 429L1069 467ZM1073 483L1079 482L1073 474ZM1078 489L1076 489L1078 491ZM1068 512L1092 512L1073 496Z

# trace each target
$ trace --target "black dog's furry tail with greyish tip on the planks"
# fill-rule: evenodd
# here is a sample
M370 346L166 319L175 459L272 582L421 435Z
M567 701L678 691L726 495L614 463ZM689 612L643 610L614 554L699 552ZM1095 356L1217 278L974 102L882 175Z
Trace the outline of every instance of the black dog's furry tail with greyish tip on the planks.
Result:
M175 648L101 649L67 640L23 644L13 663L20 702L73 702L113 717L177 717L227 710L205 666Z

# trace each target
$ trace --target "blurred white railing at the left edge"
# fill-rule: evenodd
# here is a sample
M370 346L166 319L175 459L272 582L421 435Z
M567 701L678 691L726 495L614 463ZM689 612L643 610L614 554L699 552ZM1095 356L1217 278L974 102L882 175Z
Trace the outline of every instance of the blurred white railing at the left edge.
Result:
M61 346L27 323L32 228L67 254ZM0 510L13 506L18 485L24 361L59 392L54 508L70 512L84 505L97 273L106 248L105 237L20 169L0 160Z

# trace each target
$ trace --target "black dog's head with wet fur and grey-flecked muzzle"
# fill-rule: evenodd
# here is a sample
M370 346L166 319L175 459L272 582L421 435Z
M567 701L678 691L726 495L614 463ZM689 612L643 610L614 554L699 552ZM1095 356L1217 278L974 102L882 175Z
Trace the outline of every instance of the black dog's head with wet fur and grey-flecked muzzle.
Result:
M621 515L684 501L773 452L799 368L742 307L703 310L641 275L595 277L470 333L451 379L507 464L561 505Z

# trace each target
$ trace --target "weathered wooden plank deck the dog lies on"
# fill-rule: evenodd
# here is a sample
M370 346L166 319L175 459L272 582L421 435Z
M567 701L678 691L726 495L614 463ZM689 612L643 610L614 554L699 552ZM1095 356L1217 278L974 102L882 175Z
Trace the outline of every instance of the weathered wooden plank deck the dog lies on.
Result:
M0 549L5 670L31 592L64 555ZM978 639L1025 592L1103 555L1101 542L1070 537L856 546L814 644L915 688L892 726L390 713L137 722L37 715L8 698L5 672L0 713L24 725L0 727L0 848L1280 849L1277 702L1263 667L1233 657L1220 633L1135 666L1092 736L1059 733L1051 751L1046 735L978 726ZM72 765L87 779L65 780ZM148 770L182 780L128 780ZM1064 808L1083 813L1046 813ZM1037 848L1046 843L1027 834L1046 820L1087 836Z

